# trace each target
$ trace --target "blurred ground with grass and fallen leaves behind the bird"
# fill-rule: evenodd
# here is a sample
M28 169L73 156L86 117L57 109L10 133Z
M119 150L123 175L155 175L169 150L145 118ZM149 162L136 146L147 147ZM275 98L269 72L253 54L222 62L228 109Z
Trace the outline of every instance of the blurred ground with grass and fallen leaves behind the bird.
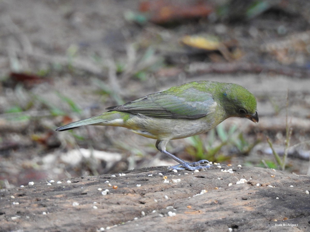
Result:
M0 13L0 188L175 164L125 128L55 129L194 80L243 85L259 123L229 118L168 151L309 174L309 1L1 0Z

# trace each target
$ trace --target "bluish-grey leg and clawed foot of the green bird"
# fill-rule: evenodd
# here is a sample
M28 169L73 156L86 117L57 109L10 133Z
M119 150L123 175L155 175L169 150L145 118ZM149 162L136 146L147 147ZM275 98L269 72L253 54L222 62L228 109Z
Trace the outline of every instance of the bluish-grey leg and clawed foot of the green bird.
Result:
M170 157L171 159L174 159L175 161L179 162L178 165L175 166L171 166L169 168L169 170L203 170L203 169L207 169L210 167L210 165L204 165L202 166L201 164L204 163L209 163L209 161L207 160L200 160L197 162L193 162L193 163L189 163L189 162L185 162L184 160L181 160L180 158L176 157L175 155L172 155L170 152L166 151L166 145L168 143L169 140L157 140L156 141L156 148L158 149L158 151L160 151L161 153L164 153L165 155L167 155L168 157Z

